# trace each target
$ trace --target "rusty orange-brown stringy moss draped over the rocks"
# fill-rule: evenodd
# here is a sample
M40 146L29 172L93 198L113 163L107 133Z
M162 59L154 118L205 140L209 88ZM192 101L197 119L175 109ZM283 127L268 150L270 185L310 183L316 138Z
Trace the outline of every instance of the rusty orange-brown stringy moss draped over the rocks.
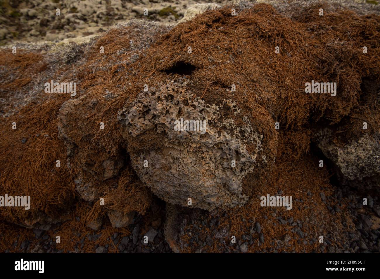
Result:
M249 118L252 126L263 134L262 147L269 154L268 166L256 168L257 172L243 182L244 192L252 194L252 199L244 207L228 211L227 216L220 219L221 226L230 224L231 232L239 236L248 226L242 220L256 218L268 224L266 237L278 238L283 234L283 226L264 221L263 215L269 208L259 208L259 203L253 199L256 193L263 193L263 189L265 193L286 190L294 197L302 197L306 190L318 199L320 188L330 188L327 174L316 169L307 157L311 131L321 127L322 121L325 126L343 123L347 128L342 130L345 133L356 133L363 119L370 123L371 131L380 127L378 105L373 105L370 97L365 100L361 89L366 77L379 85L380 19L376 15L358 16L351 11L330 9L321 20L316 6L300 9L299 16L294 19L278 14L267 4L242 10L237 16L231 16L230 8L206 11L191 22L177 25L156 38L152 47L135 62L128 59L136 53L130 45L131 28L115 29L99 38L85 54L87 63L76 68L75 75L80 81L77 91L81 90L83 99L75 107L80 113L67 116L67 136L78 146L70 160L70 168L65 165L66 149L57 131L57 115L68 98L57 96L40 104L30 104L12 120L2 119L5 129L0 134L0 185L9 195L33 197L30 211L8 208L2 210L2 218L22 223L36 218L40 212L53 217L71 208L79 212L81 221L76 221L74 213L70 213L71 219L63 223L58 232L75 243L78 241L75 231L89 233L87 221L103 216L107 208L136 210L143 214L149 207L150 193L133 176L130 166L125 166L118 176L105 182L99 182L98 176L103 172L102 162L109 157L118 157L124 150L160 147L160 136L154 135L155 131L141 138L123 137L116 115L130 105L144 84L155 87L178 77L168 75L166 70L182 61L194 69L189 75L192 80L189 89L208 103L222 98L233 99L241 115ZM104 55L99 54L100 46L105 47ZM187 53L188 46L192 46L192 54ZM280 46L280 54L275 54L276 46ZM369 49L367 54L363 54L363 46ZM2 86L9 92L30 82L25 73L44 71L47 67L43 56L26 52L21 55L1 52L1 65L9 72L5 76L8 81ZM70 69L67 69L67 78L73 77ZM306 94L304 84L311 80L337 82L337 96ZM225 90L232 84L236 85L234 93ZM106 90L118 96L106 99L103 97ZM95 107L92 105L94 99ZM241 116L233 118L236 123L242 121ZM347 118L349 120L344 122ZM11 129L13 121L17 122L17 130ZM104 130L99 130L100 122L105 123ZM280 131L274 129L275 122L280 123ZM21 143L23 138L27 138L25 144ZM254 146L248 149L253 150ZM55 168L58 159L61 168ZM90 174L84 176L100 187L107 207L78 203L74 199L73 178L83 166L90 169ZM295 208L283 214L305 218L314 211L332 221L326 208L313 204L307 210ZM320 220L310 223L307 229L315 235L326 232L328 221L321 223ZM104 242L106 235L112 234L109 224L105 227L99 241ZM336 229L342 226L338 224ZM204 228L203 232L207 233L208 229ZM56 232L51 234L53 237ZM60 247L73 251L74 245L64 243ZM295 242L292 245L301 249ZM220 245L214 243L211 251L220 249ZM260 249L250 248L250 251ZM312 246L307 247L307 251L312 249ZM87 243L83 251L93 251L93 247Z

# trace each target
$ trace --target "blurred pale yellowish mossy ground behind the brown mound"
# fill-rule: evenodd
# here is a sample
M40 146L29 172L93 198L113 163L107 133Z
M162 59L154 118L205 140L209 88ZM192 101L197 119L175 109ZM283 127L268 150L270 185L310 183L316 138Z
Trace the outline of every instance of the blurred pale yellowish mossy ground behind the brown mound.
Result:
M95 36L133 18L179 22L190 5L225 4L227 0L2 0L0 45L12 41L55 41ZM60 16L56 15L60 9ZM148 9L148 16L144 16Z

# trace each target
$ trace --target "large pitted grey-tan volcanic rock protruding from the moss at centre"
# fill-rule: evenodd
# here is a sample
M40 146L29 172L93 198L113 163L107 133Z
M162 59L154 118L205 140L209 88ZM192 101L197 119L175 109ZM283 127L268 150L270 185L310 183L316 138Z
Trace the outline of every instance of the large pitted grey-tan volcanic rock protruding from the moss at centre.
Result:
M242 179L253 171L262 135L242 117L238 126L222 112L229 107L240 113L233 100L207 104L187 89L188 80L168 81L159 88L141 92L131 107L119 111L119 121L129 136L149 130L163 135L163 148L130 152L133 168L150 189L166 202L207 210L244 204ZM206 121L205 131L176 130L176 121ZM253 154L247 144L254 144ZM146 161L145 161L146 160ZM235 166L233 166L233 160ZM147 166L144 167L144 161ZM146 165L146 164L145 164Z

